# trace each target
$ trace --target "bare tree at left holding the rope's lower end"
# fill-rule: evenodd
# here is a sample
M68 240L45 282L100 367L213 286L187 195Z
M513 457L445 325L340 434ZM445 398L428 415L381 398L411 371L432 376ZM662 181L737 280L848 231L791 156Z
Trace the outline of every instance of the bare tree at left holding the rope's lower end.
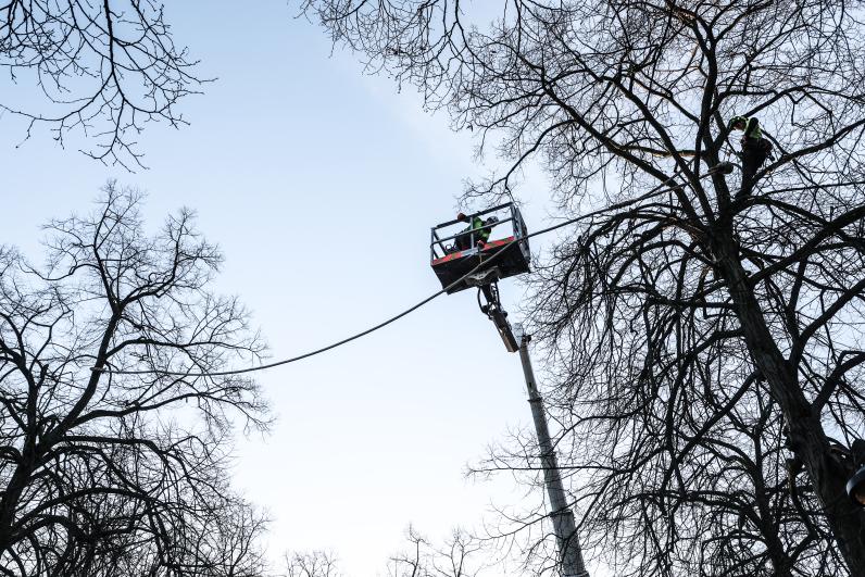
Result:
M258 574L263 519L228 486L233 423L265 429L258 358L192 214L145 234L104 188L48 225L45 266L0 250L0 574ZM148 374L120 374L140 369ZM172 371L186 376L168 376Z

